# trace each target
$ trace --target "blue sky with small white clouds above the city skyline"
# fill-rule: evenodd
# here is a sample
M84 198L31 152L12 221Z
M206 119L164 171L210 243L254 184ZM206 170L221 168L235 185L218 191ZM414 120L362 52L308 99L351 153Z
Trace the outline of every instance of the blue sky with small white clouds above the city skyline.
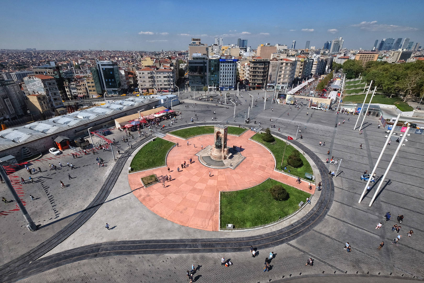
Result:
M424 5L416 1L63 1L2 0L0 49L187 50L192 37L248 39L321 48L371 49L376 39L409 37L424 46Z

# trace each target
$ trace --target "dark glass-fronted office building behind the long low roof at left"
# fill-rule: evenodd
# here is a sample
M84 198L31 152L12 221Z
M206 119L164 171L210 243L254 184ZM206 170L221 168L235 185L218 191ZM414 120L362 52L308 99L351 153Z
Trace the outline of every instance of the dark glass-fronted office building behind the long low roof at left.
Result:
M118 64L113 61L96 61L96 64L91 70L96 90L100 87L101 93L118 95L122 90Z

